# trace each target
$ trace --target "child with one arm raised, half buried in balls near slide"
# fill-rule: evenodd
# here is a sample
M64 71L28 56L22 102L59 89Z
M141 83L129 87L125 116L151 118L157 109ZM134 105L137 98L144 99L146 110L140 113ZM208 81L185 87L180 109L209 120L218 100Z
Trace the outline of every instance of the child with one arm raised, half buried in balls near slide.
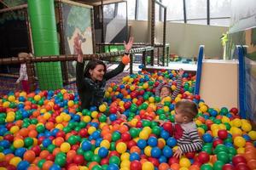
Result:
M179 94L180 92L180 88L182 86L182 77L183 77L183 69L179 69L178 73L177 73L177 88L172 92L172 88L170 84L167 83L160 83L160 85L158 85L155 88L155 96L159 96L160 97L160 103L158 103L158 106L163 106L164 103L164 99L168 96L171 97L172 101L177 97L177 94Z

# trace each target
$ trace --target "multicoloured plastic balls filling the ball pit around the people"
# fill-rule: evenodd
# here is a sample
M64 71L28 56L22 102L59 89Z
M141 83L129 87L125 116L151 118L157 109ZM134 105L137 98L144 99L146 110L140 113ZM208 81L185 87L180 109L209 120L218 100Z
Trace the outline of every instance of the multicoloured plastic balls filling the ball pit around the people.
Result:
M125 62L128 62L126 59ZM143 65L141 66L143 67ZM236 108L211 108L193 95L195 77L183 75L181 94L166 98L154 91L160 82L176 88L175 71L139 71L110 83L99 108L79 110L73 91L10 92L0 99L1 169L255 169L256 131ZM203 148L173 157L175 103L191 99L199 105L195 123ZM127 120L116 116L124 114ZM107 116L111 124L107 123ZM168 120L159 125L158 120ZM127 123L127 125L123 124Z

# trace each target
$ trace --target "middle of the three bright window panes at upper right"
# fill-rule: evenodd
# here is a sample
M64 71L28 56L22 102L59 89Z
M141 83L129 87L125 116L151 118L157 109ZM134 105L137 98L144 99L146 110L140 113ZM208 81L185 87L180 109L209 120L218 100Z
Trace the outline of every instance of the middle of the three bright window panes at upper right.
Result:
M186 0L187 22L207 25L207 0Z

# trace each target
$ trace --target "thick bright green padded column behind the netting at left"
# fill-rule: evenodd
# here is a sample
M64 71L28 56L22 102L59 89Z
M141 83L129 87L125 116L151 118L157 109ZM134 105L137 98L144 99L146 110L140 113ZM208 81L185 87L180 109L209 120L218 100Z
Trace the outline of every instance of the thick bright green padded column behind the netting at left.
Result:
M35 56L59 55L54 0L28 0ZM38 63L39 88L63 88L61 62Z

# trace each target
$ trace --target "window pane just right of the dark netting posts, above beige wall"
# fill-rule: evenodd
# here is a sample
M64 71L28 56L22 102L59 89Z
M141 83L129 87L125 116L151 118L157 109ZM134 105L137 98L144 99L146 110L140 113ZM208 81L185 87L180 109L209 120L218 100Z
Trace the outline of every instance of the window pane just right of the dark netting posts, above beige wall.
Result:
M183 22L183 1L182 0L162 0L167 7L166 20Z

